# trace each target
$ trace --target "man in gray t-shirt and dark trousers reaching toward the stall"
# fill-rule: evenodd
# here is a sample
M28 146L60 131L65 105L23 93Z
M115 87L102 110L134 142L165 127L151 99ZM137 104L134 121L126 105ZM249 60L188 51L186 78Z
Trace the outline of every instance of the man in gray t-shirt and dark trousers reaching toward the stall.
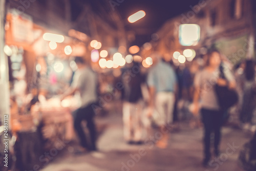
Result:
M88 151L96 151L96 129L94 123L93 105L97 103L97 77L89 68L82 57L76 57L75 62L78 70L75 72L71 87L61 96L61 99L79 92L81 105L74 112L74 128L80 139L80 144ZM91 144L88 144L86 135L84 134L82 121L87 122L90 133ZM85 151L83 149L82 151Z

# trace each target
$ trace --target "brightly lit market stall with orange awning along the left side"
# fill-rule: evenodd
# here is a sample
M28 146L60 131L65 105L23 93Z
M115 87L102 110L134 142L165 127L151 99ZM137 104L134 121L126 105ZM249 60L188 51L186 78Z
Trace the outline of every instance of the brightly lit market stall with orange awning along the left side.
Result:
M61 102L58 96L70 86L76 70L72 57L86 52L87 37L78 39L75 30L62 35L15 10L7 14L5 31L16 167L33 170L41 166L44 151L74 138L72 111L79 103L72 99L75 105L70 105L70 99Z

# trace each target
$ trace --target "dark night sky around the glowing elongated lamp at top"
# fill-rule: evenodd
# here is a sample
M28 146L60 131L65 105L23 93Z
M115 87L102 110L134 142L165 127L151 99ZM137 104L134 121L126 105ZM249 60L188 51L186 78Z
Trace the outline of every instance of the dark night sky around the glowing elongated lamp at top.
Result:
M155 33L166 20L191 10L190 6L199 3L199 0L124 0L118 10L125 23L126 31L135 31L136 40L132 45L141 46L151 40L151 35ZM127 17L131 14L144 10L146 16L136 23L127 22Z

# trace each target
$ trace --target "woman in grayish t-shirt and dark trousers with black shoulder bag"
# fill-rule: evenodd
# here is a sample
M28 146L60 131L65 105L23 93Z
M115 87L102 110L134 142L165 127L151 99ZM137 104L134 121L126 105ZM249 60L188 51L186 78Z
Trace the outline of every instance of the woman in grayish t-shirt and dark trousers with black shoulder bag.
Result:
M194 110L195 116L199 114L199 101L201 100L201 115L204 124L204 160L203 165L207 166L211 158L210 137L214 133L215 156L220 154L221 126L224 118L224 110L218 104L215 85L224 86L228 84L229 89L236 87L236 82L228 69L224 70L225 79L220 78L221 54L212 50L206 55L205 67L196 74L194 85Z

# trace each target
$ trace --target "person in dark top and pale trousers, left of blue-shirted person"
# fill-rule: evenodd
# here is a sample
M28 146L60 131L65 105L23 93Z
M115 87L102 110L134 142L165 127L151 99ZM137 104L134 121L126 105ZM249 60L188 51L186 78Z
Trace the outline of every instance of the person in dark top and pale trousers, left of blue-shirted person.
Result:
M133 62L132 68L126 68L122 74L123 132L128 144L141 144L144 133L144 101L142 96L143 77L139 64Z

